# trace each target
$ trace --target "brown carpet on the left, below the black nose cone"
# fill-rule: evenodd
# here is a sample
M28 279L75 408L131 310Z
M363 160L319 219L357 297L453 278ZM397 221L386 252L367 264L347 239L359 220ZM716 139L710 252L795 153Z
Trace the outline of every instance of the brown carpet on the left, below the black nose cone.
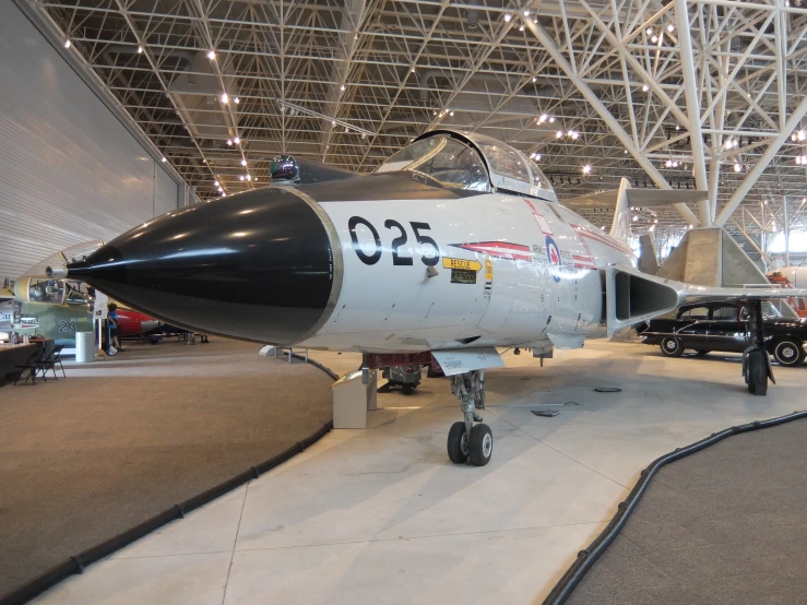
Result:
M0 389L0 596L331 419L322 370L258 349L129 345Z

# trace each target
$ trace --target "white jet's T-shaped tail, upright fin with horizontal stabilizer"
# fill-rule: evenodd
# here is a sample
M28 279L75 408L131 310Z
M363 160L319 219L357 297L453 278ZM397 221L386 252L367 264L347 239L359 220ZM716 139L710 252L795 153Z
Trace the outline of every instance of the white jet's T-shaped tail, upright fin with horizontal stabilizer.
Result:
M657 207L678 203L693 203L708 199L705 191L680 189L631 189L628 179L619 179L619 189L598 191L571 200L562 204L571 209L614 207L614 221L610 235L627 240L630 235L630 209Z

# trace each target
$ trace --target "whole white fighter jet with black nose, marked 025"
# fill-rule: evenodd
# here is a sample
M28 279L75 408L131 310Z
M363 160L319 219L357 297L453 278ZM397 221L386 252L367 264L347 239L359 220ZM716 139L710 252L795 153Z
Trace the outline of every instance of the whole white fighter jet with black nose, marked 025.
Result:
M212 334L360 352L367 369L439 365L464 416L449 458L475 465L492 454L479 414L485 369L503 365L497 347L549 355L695 299L781 295L640 273L626 240L627 183L578 201L612 200L605 233L559 204L532 159L489 137L436 130L373 175L315 185L296 185L281 164L292 185L169 212L51 274ZM634 194L641 205L695 200ZM772 375L757 315L746 380L763 394Z

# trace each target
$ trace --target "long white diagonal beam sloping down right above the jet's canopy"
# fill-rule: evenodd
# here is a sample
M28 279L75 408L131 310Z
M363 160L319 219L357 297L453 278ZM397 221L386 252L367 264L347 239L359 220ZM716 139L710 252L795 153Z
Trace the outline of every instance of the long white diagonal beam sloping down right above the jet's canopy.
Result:
M546 31L532 20L526 21L526 26L535 35L535 37L538 38L546 51L553 57L553 59L555 59L560 69L563 70L566 75L569 78L569 80L571 80L574 86L577 86L577 88L585 97L589 104L594 108L600 117L603 118L605 123L608 124L608 128L610 128L612 132L614 132L617 139L619 139L622 145L625 145L625 149L628 150L628 152L633 156L633 159L636 159L644 169L644 171L648 173L648 176L653 180L658 189L673 189L667 180L658 171L658 169L653 166L653 163L650 162L650 159L648 159L648 157L633 144L633 140L631 139L630 134L625 131L622 126L616 120L616 118L614 118L612 112L603 104L603 102L600 100L597 95L577 74L577 72L569 64L569 61L566 60L566 57L563 57L563 55L560 52L558 47L555 45L555 41L551 39L551 37L549 37ZM700 221L698 221L698 217L692 213L691 210L689 210L686 204L675 204L675 207L689 224L693 226L700 225Z

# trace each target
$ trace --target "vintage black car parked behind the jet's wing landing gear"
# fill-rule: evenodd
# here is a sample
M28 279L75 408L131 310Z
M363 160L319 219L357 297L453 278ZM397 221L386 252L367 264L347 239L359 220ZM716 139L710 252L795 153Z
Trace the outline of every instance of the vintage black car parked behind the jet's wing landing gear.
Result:
M807 319L783 317L771 302L762 302L768 353L782 366L799 366L807 356ZM743 302L686 305L667 317L637 328L644 344L657 344L668 357L687 348L698 355L711 351L743 353L748 347L748 310Z

